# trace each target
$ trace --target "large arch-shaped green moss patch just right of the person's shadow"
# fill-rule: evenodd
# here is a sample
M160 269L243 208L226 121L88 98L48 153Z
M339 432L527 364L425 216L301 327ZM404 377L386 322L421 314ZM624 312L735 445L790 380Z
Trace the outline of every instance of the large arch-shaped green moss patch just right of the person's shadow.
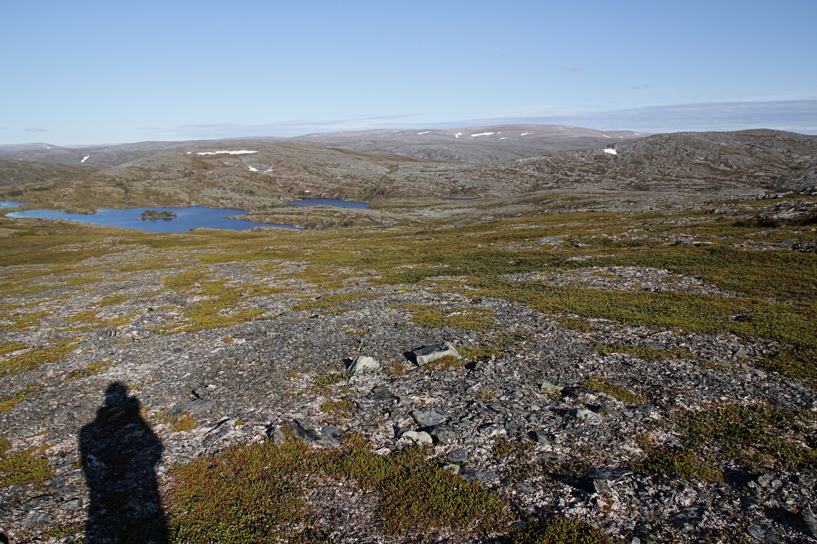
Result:
M305 493L326 477L377 493L377 523L388 534L474 527L489 533L508 515L505 502L482 484L441 470L423 449L377 455L359 439L342 449L311 449L300 440L230 446L172 475L169 513L181 542L301 540Z

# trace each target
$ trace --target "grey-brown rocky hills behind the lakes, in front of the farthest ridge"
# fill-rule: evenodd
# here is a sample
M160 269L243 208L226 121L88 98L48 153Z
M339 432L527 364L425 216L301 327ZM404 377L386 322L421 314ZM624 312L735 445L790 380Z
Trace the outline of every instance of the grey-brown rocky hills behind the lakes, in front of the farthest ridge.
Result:
M480 215L649 210L759 197L811 184L817 171L815 149L815 136L744 130L651 135L606 148L467 164L248 139L229 146L197 145L56 180L47 191L30 193L40 185L13 190L29 191L22 197L32 203L29 207L86 212L100 207L239 207L274 223L288 223L273 219L291 215L282 206L292 198L341 197L372 202L376 210L395 210L378 216L388 224L420 225L433 224L425 219L428 201L422 199L428 198L436 199L438 209L466 209L454 214L465 221ZM444 205L444 198L484 200ZM407 200L417 206L405 206ZM484 211L472 213L480 207ZM321 216L326 219L325 213Z

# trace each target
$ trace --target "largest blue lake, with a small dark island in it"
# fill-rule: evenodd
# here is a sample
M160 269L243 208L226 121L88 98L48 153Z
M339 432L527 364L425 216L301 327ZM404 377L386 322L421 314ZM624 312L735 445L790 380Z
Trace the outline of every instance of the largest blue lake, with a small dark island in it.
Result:
M224 228L231 231L243 231L253 227L295 228L292 225L279 223L257 223L247 219L228 219L225 215L243 215L247 210L232 208L204 208L187 206L186 208L155 208L158 211L172 211L176 217L171 219L141 219L142 212L153 208L127 208L126 210L96 210L96 214L69 214L56 210L16 211L8 217L35 217L39 219L70 219L83 223L108 225L109 227L136 228L148 232L185 232L191 228Z

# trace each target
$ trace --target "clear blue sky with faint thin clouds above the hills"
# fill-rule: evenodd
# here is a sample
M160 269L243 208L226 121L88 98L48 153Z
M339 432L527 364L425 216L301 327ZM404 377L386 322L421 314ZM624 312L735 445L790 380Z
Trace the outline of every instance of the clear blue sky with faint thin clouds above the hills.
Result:
M817 2L0 0L0 144L554 122L817 134Z

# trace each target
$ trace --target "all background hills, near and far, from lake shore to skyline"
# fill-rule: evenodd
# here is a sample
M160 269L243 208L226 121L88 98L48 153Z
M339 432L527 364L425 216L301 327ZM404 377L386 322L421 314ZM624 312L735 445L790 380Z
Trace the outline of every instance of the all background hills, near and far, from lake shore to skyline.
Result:
M554 150L571 141L584 147ZM762 129L639 135L523 125L99 149L44 145L6 146L0 156L74 157L74 162L6 158L0 183L8 187L0 198L29 202L29 209L80 213L209 206L250 210L245 219L265 223L429 226L757 197L814 184L817 177L817 136ZM530 154L480 161L501 154L502 146L506 153ZM455 151L463 160L427 157ZM84 157L89 158L80 162ZM92 158L114 166L94 164ZM343 211L285 206L303 197L370 206Z

